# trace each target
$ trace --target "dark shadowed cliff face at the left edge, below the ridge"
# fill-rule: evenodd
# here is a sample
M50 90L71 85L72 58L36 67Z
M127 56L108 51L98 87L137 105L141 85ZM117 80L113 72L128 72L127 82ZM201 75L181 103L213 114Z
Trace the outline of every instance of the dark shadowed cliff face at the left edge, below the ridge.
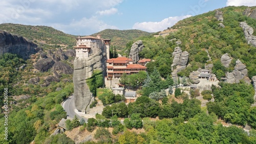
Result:
M10 34L0 30L0 55L12 53L28 59L31 54L35 54L37 45L24 37Z

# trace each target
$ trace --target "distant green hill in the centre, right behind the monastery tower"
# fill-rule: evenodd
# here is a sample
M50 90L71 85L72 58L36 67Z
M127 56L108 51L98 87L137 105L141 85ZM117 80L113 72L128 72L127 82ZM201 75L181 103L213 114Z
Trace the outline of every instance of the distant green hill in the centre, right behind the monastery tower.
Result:
M152 33L144 32L140 30L106 29L98 33L92 34L92 36L96 36L98 34L101 34L102 38L111 39L111 45L115 45L117 50L122 50L125 47L126 43L128 43L133 39L136 39L140 36L152 35Z

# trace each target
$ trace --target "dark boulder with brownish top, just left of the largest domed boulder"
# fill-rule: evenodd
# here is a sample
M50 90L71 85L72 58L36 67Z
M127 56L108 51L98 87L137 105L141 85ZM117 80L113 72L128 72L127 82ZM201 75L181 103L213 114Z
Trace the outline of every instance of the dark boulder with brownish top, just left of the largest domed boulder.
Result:
M50 68L52 68L54 63L55 62L51 58L40 59L36 62L34 67L35 67L35 69L44 72L44 71L48 71Z

